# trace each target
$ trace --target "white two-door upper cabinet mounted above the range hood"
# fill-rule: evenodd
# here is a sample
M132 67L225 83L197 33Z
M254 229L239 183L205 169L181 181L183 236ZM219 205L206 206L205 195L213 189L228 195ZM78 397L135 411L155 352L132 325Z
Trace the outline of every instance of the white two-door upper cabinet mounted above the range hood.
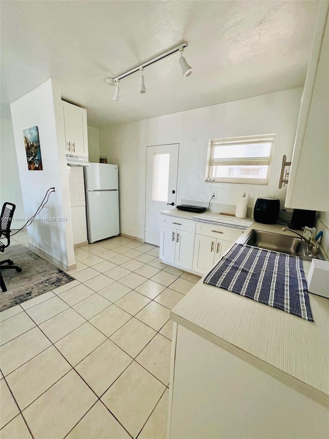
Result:
M65 150L88 158L87 111L62 100Z

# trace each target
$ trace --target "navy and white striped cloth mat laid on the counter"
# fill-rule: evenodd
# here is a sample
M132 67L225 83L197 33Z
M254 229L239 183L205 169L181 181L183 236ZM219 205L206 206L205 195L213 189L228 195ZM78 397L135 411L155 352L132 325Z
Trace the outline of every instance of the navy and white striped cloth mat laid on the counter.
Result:
M235 244L204 283L314 321L300 257Z

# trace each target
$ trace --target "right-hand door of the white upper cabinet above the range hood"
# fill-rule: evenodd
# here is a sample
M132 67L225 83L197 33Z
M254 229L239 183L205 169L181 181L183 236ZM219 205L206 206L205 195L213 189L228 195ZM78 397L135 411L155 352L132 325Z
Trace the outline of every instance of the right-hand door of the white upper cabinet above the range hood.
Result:
M69 105L71 153L88 157L87 112L85 109Z

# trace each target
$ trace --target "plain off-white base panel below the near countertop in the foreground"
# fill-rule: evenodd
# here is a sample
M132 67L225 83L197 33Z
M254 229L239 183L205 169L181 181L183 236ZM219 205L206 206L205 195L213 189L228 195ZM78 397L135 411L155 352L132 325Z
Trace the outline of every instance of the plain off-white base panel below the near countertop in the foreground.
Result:
M176 322L170 376L168 439L328 435L325 406Z

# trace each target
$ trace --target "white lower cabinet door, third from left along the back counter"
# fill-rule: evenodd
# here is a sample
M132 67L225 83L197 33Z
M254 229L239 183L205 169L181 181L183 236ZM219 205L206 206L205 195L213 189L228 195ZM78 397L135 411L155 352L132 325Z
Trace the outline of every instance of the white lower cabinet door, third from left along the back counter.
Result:
M216 239L210 236L195 235L193 271L206 274L214 265Z

